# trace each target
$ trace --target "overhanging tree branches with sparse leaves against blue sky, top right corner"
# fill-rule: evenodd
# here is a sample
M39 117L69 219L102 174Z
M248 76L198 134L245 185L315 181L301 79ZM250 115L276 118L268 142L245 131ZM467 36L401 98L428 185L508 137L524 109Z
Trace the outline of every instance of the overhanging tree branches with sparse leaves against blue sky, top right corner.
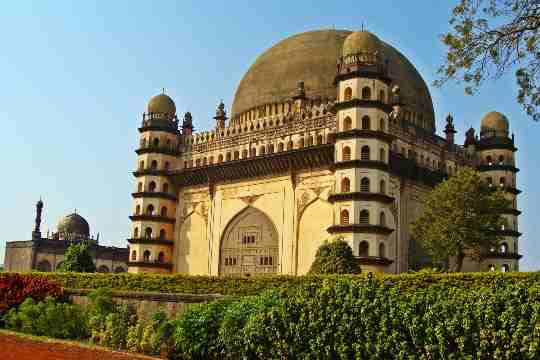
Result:
M455 80L473 94L485 80L515 71L518 103L540 120L540 0L460 0L450 25L435 85Z

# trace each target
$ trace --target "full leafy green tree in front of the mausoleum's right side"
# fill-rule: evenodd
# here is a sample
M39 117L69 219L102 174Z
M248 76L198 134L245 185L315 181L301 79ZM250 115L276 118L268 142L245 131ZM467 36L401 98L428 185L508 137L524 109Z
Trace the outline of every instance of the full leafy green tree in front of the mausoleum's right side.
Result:
M461 271L465 256L479 260L481 251L496 247L497 231L505 224L500 215L510 202L502 190L493 190L480 174L460 169L426 197L411 236L435 262L450 263Z

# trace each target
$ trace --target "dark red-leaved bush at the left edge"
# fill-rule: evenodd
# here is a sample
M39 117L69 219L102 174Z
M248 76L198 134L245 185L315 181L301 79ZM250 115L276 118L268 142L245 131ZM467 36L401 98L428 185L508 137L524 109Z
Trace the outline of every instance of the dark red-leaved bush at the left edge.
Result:
M30 297L41 301L46 297L62 298L62 289L44 276L35 274L0 274L0 315Z

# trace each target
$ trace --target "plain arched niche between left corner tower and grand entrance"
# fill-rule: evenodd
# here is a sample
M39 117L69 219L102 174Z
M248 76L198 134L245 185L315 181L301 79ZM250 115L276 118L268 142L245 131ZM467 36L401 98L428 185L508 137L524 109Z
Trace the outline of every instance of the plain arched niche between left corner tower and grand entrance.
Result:
M175 249L177 272L189 275L209 275L206 223L201 215L194 212L184 220Z

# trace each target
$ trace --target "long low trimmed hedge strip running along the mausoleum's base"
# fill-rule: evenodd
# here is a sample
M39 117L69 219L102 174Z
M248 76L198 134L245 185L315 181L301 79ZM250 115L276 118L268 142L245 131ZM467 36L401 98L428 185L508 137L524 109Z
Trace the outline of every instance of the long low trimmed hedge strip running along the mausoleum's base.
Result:
M10 273L0 273L0 279ZM163 293L255 295L268 289L291 289L305 283L324 279L336 281L350 279L365 282L370 274L326 275L326 276L273 276L224 278L209 276L154 275L154 274L100 274L100 273L36 273L45 276L66 288L151 291ZM376 276L378 283L398 288L401 292L414 292L426 287L457 287L476 289L495 285L501 281L540 284L540 272L527 273L414 273Z

